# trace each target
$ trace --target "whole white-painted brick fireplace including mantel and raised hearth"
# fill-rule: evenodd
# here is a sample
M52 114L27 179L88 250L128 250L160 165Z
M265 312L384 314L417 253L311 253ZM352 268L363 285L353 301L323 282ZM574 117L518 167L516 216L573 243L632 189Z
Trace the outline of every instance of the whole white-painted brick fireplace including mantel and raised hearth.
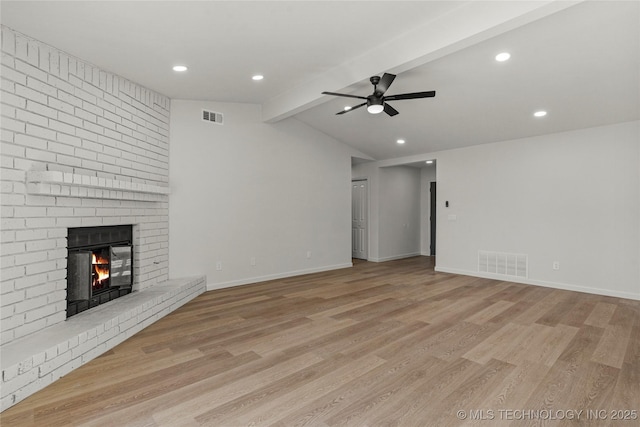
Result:
M170 100L4 26L1 34L5 409L204 282L168 281ZM67 319L69 229L119 226L131 229L133 292L120 312L112 301Z

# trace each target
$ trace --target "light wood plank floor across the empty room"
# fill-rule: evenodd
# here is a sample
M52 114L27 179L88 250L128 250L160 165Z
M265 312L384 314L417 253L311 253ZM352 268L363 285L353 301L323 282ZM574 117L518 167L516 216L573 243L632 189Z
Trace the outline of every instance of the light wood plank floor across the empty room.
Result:
M632 426L612 418L634 410L640 301L436 273L416 257L207 292L0 420Z

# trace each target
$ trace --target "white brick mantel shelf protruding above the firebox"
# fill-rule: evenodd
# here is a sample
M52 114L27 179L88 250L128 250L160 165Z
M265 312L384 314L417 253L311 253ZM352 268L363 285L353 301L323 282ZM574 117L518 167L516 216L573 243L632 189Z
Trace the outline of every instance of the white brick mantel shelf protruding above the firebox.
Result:
M28 171L27 191L29 194L47 196L149 202L166 200L170 193L169 187L160 185L99 178L97 176L61 171Z

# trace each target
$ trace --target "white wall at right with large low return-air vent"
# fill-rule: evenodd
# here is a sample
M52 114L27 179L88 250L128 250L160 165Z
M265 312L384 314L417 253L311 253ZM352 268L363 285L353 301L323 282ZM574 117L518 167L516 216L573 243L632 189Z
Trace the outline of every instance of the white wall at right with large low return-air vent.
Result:
M639 299L639 141L630 122L437 153L437 269L522 253L532 283Z

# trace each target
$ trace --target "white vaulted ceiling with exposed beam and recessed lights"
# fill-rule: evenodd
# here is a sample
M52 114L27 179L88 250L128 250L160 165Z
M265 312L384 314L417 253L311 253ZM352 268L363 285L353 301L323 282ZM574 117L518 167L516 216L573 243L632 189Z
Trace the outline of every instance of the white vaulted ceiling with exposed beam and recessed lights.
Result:
M6 1L1 22L173 99L263 105L374 159L640 118L637 1ZM509 51L511 60L493 58ZM185 64L176 74L171 67ZM371 75L400 114L360 109ZM265 75L261 82L253 74ZM345 102L346 101L346 102ZM353 100L357 101L357 100ZM538 119L539 109L548 115ZM398 138L407 141L400 146Z

